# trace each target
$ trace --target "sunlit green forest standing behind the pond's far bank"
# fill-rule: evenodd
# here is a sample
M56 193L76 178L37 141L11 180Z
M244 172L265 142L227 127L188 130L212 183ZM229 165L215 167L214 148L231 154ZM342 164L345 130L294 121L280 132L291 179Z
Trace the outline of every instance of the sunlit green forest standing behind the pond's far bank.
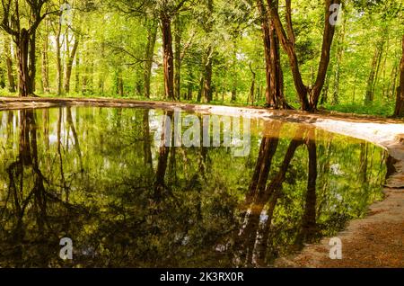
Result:
M2 0L0 95L404 114L400 0Z

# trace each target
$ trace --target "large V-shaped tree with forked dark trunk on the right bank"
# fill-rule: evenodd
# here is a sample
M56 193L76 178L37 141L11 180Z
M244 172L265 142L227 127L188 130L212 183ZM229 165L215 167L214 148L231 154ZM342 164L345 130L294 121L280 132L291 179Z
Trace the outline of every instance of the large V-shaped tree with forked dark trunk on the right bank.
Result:
M314 85L304 85L302 74L299 67L299 60L296 55L295 49L295 36L294 27L292 23L292 0L286 1L286 31L283 23L280 20L277 1L268 0L269 11L274 21L277 36L282 43L283 48L289 58L292 74L294 77L294 86L300 99L300 103L303 111L314 112L317 109L319 103L322 87L324 86L327 69L329 67L329 51L331 48L332 40L335 33L335 25L331 20L331 17L336 13L332 8L334 4L340 5L339 0L325 0L325 19L324 19L324 31L321 48L320 65L317 72L317 78ZM337 7L337 6L335 6ZM338 10L338 9L337 9Z

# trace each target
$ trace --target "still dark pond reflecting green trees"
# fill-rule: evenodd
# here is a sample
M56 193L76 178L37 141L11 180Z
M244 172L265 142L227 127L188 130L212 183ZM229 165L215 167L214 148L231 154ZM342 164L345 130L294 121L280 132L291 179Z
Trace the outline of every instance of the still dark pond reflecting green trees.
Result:
M221 118L218 135L191 134L187 118L206 122L142 109L0 112L0 267L270 267L383 199L380 147L281 121ZM239 127L249 132L237 143ZM63 237L72 260L60 258Z

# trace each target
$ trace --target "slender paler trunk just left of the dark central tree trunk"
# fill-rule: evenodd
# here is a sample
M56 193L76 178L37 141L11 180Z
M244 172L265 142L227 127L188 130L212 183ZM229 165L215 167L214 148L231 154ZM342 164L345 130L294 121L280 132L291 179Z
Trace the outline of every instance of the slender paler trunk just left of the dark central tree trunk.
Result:
M157 24L154 21L147 23L147 46L145 49L145 97L150 98L150 85L154 60L154 46L157 38Z

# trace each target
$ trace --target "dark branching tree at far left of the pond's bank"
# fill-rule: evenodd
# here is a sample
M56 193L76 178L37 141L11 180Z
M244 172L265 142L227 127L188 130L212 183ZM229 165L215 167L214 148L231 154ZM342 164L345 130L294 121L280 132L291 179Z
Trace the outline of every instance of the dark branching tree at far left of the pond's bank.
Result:
M18 58L19 94L34 95L36 31L50 13L50 0L1 0L0 29L13 37Z

